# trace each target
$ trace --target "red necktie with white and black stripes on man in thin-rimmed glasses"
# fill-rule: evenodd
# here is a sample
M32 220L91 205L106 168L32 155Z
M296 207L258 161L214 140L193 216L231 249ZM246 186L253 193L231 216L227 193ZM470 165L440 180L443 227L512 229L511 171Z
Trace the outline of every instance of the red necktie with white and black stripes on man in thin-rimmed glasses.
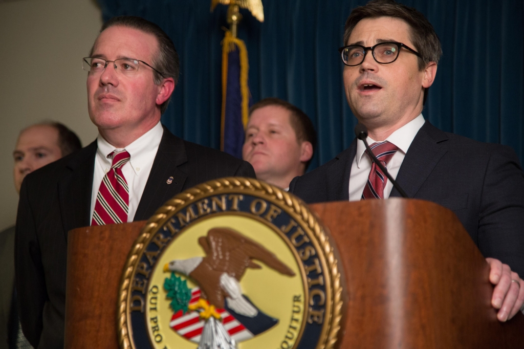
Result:
M130 155L127 151L122 150L113 151L107 157L111 156L113 156L113 164L102 179L98 195L96 195L91 225L127 222L129 189L122 173L122 166L129 161Z

